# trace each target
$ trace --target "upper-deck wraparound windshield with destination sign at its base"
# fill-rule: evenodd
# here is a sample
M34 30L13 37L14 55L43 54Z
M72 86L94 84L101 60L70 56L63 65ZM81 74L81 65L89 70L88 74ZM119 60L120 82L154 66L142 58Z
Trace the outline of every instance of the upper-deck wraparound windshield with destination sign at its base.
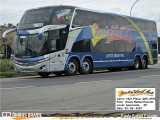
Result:
M66 7L40 8L26 11L19 29L37 29L45 25L70 25L73 9Z

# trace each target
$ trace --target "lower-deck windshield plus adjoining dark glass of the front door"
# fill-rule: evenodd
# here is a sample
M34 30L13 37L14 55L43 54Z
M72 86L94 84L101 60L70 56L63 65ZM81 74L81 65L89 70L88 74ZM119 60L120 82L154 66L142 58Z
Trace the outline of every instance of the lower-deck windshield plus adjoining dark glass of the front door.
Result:
M40 40L38 34L17 36L15 57L34 58L63 50L66 45L68 28L45 32Z

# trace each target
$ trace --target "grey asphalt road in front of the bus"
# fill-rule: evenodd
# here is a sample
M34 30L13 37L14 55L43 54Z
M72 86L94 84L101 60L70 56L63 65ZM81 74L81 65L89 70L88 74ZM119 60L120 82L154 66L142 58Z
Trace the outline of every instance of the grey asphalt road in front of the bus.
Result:
M159 106L160 64L146 70L98 72L48 78L2 78L2 111L114 111L115 88L156 88ZM158 111L159 112L159 111Z

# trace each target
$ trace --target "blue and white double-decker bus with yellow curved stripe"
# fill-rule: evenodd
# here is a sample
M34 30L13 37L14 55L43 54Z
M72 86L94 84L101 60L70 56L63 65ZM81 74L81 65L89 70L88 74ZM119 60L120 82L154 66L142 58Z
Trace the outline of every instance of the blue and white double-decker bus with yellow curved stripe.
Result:
M42 77L146 69L158 61L156 23L74 6L30 9L16 31L14 66Z

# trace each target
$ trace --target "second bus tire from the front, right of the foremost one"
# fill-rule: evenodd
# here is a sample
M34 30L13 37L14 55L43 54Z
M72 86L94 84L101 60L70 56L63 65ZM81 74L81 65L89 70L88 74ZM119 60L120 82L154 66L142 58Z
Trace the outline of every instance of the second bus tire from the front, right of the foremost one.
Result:
M84 59L82 67L79 70L80 74L90 74L92 73L92 63L89 59Z

